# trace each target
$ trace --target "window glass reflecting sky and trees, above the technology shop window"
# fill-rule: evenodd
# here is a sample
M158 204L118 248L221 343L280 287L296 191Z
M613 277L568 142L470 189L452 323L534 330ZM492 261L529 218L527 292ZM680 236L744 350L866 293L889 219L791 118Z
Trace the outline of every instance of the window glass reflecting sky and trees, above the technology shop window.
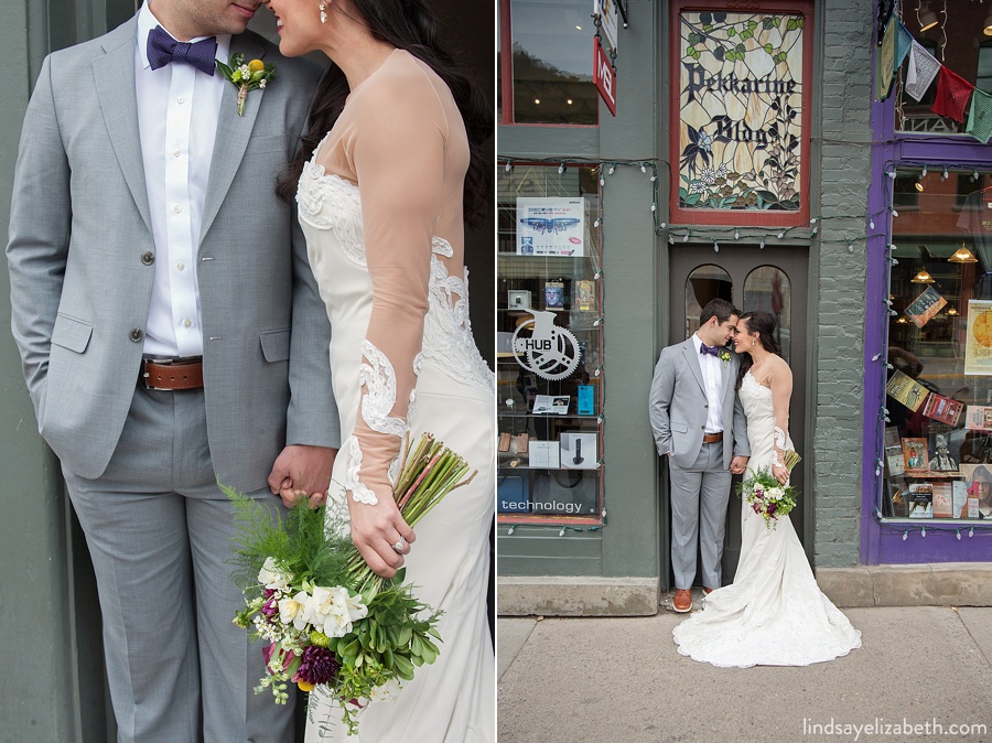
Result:
M599 121L586 0L511 0L514 120Z

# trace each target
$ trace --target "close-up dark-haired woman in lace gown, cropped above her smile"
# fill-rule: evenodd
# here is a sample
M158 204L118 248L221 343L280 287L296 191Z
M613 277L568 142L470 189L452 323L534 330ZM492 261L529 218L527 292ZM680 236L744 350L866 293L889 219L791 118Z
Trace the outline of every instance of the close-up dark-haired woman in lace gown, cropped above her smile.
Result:
M443 612L438 660L391 698L363 700L348 740L494 741L495 380L472 337L463 256L465 218L485 200L478 146L492 115L441 50L424 0L266 4L284 54L320 50L333 63L281 192L295 193L331 319L343 443L328 495L346 499L369 567L389 578L405 566L418 599ZM424 431L478 474L414 535L390 476L405 433ZM308 741L345 739L336 702L312 698L310 712Z

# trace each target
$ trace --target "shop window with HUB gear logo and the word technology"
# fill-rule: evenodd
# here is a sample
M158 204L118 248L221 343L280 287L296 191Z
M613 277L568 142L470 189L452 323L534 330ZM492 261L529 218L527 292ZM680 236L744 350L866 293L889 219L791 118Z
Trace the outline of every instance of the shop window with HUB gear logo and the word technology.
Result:
M599 171L511 163L499 173L497 514L602 524Z

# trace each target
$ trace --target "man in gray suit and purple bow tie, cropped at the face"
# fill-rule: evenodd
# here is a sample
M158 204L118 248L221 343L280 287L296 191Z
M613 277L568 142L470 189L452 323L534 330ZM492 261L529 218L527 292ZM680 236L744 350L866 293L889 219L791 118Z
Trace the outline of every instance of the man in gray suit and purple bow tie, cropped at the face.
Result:
M341 443L327 315L273 193L319 71L242 33L258 8L151 0L52 54L21 138L12 327L93 557L119 741L292 739L231 624L217 486L319 499ZM236 52L276 64L244 116L215 73Z

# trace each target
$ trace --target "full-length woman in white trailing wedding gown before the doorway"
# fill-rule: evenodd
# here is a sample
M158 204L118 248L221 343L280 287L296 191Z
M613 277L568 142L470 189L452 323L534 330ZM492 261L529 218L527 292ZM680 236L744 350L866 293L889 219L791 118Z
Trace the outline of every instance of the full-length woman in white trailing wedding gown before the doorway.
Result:
M762 467L786 484L792 373L774 337L775 320L745 312L737 323L738 394L747 416L751 460L744 477ZM800 494L801 497L801 494ZM742 499L743 500L743 499ZM714 666L808 666L861 647L861 633L823 595L788 516L774 528L742 502L741 561L734 582L713 591L703 611L672 631L679 653Z

